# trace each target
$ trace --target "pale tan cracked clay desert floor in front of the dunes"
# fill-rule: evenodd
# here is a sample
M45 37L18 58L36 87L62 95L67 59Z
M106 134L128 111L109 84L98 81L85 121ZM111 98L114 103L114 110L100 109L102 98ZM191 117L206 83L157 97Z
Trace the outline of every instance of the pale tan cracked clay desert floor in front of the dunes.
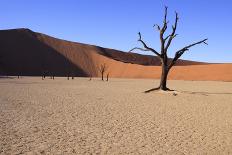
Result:
M0 79L0 154L232 154L232 83Z

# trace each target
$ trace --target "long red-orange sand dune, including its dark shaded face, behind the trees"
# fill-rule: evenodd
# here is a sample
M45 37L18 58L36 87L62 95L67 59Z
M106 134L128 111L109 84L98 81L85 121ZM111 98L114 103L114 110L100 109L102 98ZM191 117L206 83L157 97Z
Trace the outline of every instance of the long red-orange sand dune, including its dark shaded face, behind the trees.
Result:
M1 74L99 76L106 63L110 77L159 78L157 57L125 53L56 39L29 29L0 31ZM232 81L232 64L180 60L169 79Z

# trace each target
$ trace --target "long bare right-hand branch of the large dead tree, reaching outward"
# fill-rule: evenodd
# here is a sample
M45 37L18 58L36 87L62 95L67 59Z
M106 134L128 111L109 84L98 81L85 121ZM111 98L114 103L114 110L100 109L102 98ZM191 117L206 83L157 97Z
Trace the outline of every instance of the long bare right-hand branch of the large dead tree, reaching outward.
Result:
M195 46L195 45L198 45L198 44L206 44L208 45L208 43L206 42L208 39L204 39L204 40L201 40L199 42L196 42L196 43L193 43L193 44L190 44L188 46L185 46L184 48L178 50L175 54L175 57L173 58L173 60L171 61L171 63L169 64L168 66L168 69L170 69L173 65L175 65L176 61L182 56L182 54L184 54L185 51L188 51L189 48Z

